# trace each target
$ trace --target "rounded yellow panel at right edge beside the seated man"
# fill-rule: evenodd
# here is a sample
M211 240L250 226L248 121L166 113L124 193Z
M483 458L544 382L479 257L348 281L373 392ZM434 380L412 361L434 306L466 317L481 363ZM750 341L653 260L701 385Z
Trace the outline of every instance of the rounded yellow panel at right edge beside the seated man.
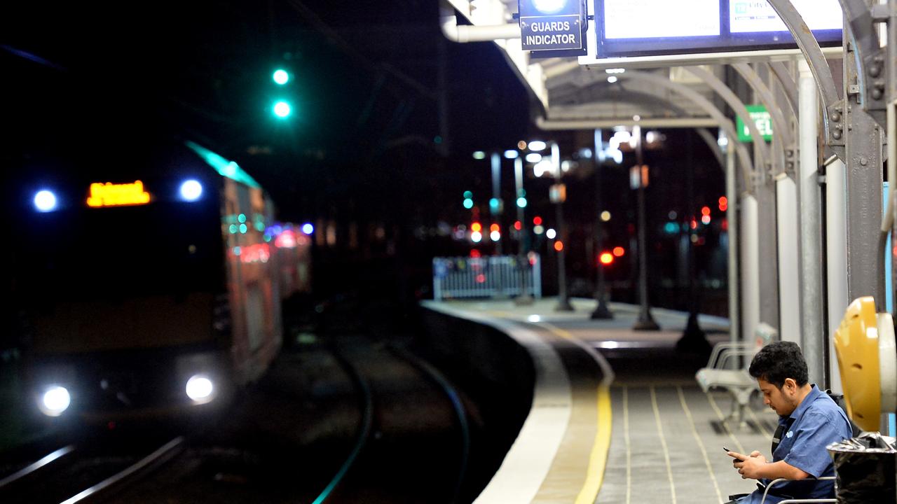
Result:
M878 430L882 392L873 298L859 298L850 303L835 332L835 352L850 419L862 430Z

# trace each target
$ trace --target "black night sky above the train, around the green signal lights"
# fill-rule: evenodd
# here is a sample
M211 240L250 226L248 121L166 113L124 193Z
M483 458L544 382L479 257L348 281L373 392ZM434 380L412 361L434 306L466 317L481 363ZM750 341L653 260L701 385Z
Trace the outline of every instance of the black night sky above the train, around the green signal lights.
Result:
M371 188L384 202L432 201L434 185L454 194L470 152L513 145L528 127L499 50L442 39L425 0L4 3L0 45L7 174L23 155L102 162L177 132L239 161L294 219L327 212L322 199L361 204ZM295 76L286 90L271 83L277 65ZM284 91L296 112L277 121L269 107Z

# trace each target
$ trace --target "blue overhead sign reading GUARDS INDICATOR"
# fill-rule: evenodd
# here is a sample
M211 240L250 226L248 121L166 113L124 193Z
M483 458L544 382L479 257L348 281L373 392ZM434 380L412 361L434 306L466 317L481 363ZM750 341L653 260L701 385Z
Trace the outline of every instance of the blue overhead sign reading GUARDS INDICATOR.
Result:
M585 48L583 0L519 0L520 40L525 51Z

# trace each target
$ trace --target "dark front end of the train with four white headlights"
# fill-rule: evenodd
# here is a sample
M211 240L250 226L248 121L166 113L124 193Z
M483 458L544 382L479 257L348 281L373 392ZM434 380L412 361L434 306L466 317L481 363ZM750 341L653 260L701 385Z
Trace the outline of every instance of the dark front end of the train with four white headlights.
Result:
M113 426L228 395L220 186L187 169L24 187L15 277L38 416Z

